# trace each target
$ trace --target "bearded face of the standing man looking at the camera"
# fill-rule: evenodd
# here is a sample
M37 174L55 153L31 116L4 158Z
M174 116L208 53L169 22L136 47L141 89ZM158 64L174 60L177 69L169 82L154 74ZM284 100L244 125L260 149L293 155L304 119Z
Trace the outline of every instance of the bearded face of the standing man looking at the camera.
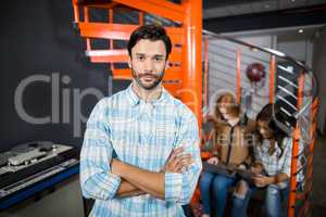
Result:
M139 87L154 89L163 79L167 65L164 42L140 39L131 49L128 64Z

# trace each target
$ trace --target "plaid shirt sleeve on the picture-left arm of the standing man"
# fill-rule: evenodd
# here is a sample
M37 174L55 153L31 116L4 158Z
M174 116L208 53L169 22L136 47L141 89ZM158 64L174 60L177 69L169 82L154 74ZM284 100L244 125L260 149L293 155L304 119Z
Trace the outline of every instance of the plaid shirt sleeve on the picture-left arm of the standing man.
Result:
M121 178L111 173L112 143L101 100L90 114L80 152L80 187L87 199L113 199Z

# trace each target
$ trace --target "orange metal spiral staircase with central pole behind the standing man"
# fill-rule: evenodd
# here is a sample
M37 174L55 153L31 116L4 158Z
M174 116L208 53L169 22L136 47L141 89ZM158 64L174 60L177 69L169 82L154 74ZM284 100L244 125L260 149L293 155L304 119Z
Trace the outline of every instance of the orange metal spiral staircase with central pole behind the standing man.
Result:
M161 16L177 27L165 27L173 48L170 67L165 72L163 86L187 104L197 115L201 126L202 66L201 66L201 0L184 0L174 3L167 0L73 0L74 22L86 39L86 55L92 63L108 63L114 79L131 79L129 68L116 68L115 63L127 63L126 49L115 49L115 40L127 41L130 33L145 22L145 14ZM108 22L91 21L91 10L108 11ZM115 10L138 12L138 24L117 24L113 21ZM191 15L190 15L191 14ZM83 17L83 18L82 18ZM106 39L108 48L93 49L91 40Z

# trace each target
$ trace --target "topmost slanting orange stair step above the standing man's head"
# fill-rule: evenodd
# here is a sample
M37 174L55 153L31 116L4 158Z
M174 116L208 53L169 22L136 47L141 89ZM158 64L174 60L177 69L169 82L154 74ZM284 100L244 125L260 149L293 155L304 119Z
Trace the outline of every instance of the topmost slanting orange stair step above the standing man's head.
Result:
M122 3L139 11L145 11L147 13L156 14L179 23L184 22L185 18L184 8L180 4L166 0L114 0L114 2Z

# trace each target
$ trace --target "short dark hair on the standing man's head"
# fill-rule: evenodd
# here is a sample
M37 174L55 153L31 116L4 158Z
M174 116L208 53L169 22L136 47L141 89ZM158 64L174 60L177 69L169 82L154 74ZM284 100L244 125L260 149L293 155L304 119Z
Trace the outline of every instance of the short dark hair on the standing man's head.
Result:
M168 58L172 49L172 43L170 37L166 34L166 30L162 26L153 24L143 25L134 30L128 41L129 56L131 56L131 49L140 39L149 39L151 41L162 40L165 44L166 59Z

